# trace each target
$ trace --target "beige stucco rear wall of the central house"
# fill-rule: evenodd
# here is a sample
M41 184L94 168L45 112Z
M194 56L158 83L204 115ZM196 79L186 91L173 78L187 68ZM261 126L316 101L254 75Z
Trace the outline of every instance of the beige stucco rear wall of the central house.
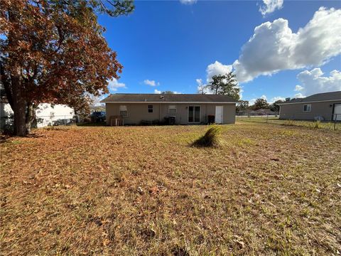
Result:
M110 116L119 115L119 106L126 105L128 117L124 117L124 124L140 124L141 120L163 121L164 117L175 116L176 124L188 124L188 106L200 106L200 123L207 122L208 114L215 114L215 106L223 106L224 124L233 124L235 121L236 105L229 104L168 104L168 103L106 103L107 124ZM153 113L148 112L148 105L153 105ZM176 113L169 114L169 105L176 106Z

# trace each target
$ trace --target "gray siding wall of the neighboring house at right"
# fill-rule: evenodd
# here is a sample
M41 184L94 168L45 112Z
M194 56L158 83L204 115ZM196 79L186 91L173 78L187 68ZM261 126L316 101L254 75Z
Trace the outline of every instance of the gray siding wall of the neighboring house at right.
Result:
M315 117L323 117L325 120L332 119L332 110L335 103L341 103L341 100L332 102L307 102L281 105L279 118L280 119L297 119L297 120L313 120ZM304 112L304 105L311 105L310 112Z

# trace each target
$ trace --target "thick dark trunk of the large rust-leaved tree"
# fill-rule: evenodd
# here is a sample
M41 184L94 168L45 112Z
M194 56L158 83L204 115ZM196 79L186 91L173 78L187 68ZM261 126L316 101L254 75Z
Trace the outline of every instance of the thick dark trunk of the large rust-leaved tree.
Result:
M14 135L26 136L26 102L22 95L19 75L11 75L12 105L14 112Z

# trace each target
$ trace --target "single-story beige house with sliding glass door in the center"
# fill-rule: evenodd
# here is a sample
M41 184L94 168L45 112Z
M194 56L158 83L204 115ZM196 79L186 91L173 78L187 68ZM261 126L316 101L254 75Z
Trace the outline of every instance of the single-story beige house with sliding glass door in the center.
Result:
M102 100L107 124L123 117L124 124L233 124L236 100L227 95L127 94L117 93Z

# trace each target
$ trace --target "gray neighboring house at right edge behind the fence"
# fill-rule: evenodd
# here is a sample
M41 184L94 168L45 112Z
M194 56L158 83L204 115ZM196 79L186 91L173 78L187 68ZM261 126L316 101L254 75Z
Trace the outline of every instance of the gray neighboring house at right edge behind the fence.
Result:
M341 91L318 93L278 105L280 119L341 121Z

